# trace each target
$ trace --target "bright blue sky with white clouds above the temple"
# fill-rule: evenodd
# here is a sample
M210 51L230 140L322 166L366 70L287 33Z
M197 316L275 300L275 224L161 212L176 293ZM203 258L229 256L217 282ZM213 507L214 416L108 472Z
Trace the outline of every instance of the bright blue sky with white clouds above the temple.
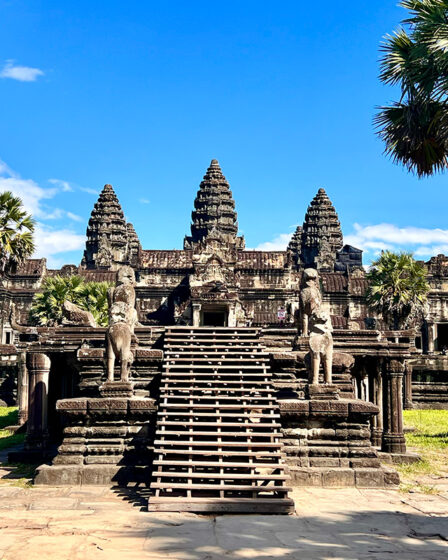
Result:
M0 0L0 190L39 222L38 256L78 263L111 183L146 249L181 248L217 158L248 247L285 247L325 187L347 242L448 252L446 176L383 155L375 107L394 0Z

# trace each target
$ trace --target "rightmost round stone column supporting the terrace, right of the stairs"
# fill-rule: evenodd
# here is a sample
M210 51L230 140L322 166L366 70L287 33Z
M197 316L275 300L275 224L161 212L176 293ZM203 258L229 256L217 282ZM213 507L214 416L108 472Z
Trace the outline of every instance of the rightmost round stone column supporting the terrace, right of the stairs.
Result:
M403 433L403 372L399 360L385 360L384 433L381 450L386 453L406 453Z

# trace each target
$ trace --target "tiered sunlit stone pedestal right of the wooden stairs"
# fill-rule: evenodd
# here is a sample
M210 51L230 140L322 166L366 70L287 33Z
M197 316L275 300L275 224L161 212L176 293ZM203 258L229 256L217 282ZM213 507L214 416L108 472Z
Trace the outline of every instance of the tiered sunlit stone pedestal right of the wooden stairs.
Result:
M398 484L370 442L378 407L361 400L279 401L286 463L293 486L360 488Z

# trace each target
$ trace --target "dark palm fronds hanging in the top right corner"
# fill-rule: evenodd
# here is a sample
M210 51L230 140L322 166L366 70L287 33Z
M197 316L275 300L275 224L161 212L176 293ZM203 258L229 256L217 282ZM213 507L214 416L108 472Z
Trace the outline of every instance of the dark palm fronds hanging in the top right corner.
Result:
M419 177L448 168L448 0L404 0L401 28L385 37L380 80L399 101L374 122L385 152Z

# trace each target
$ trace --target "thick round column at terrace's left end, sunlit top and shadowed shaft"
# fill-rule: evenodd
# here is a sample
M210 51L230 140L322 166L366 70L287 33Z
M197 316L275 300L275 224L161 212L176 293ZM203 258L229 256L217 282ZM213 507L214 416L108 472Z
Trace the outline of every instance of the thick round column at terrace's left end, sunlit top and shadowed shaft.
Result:
M25 448L45 449L48 441L48 378L51 362L46 354L28 354L26 365L29 404Z

